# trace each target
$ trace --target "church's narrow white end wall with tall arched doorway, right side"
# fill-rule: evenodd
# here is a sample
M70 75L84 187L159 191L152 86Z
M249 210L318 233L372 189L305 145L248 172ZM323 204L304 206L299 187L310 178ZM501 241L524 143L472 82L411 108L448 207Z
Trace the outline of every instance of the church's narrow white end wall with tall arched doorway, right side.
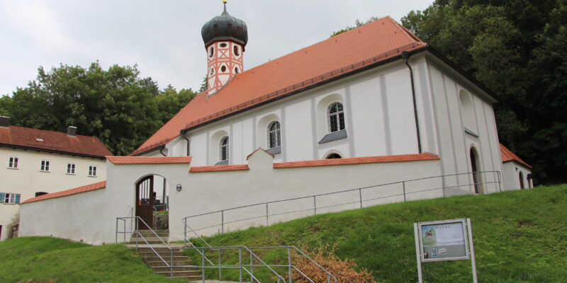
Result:
M498 135L493 115L493 98L479 90L447 65L427 59L433 93L433 109L439 137L445 175L471 172L470 150L478 152L478 170L502 171ZM468 98L470 108L464 109L462 95ZM483 174L483 182L495 182L481 187L483 193L497 192L497 173ZM447 176L446 186L461 187L461 193L473 192L472 175Z

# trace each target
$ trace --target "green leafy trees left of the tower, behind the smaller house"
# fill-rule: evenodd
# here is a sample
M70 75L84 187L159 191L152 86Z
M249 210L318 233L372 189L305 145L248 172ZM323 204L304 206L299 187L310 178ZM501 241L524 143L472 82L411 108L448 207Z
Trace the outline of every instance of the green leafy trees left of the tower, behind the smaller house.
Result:
M129 154L195 96L172 87L159 91L151 78L141 79L137 67L99 63L88 69L60 65L45 71L26 88L0 99L0 115L11 125L99 137L114 154Z

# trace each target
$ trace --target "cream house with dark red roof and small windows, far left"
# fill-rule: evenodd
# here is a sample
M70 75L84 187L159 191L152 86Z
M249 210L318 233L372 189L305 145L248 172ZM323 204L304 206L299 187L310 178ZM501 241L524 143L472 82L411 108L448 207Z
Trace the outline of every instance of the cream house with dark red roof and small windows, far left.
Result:
M98 138L75 132L16 127L0 117L0 241L17 224L20 202L106 180L105 156L111 152Z

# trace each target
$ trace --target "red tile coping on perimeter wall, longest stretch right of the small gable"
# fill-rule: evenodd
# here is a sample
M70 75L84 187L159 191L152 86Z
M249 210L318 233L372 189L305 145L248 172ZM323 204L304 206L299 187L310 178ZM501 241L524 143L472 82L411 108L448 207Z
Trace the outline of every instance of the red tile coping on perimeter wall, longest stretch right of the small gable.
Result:
M430 154L429 152L427 152L425 154L400 154L400 155L388 155L388 156L368 156L368 157L354 157L354 158L336 158L336 159L283 162L283 163L274 163L274 168L335 166L335 165L348 165L348 164L423 161L423 160L438 160L438 159L439 156L437 156L436 154Z

